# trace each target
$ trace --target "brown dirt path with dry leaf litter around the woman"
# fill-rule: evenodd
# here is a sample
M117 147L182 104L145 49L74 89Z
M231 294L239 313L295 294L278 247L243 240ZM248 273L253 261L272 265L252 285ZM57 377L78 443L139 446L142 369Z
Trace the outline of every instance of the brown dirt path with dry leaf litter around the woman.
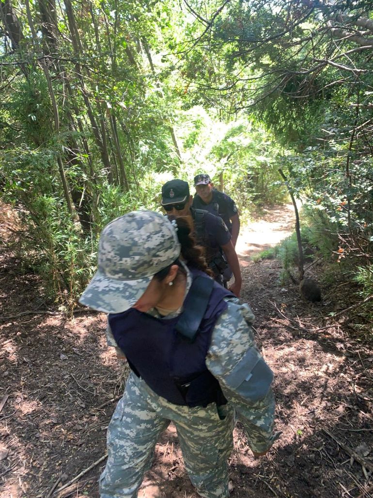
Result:
M323 289L329 296L311 306L298 299L295 286L279 283L279 261L250 260L291 231L292 216L289 207L269 210L237 245L242 299L256 314L257 340L275 373L277 428L283 434L268 456L254 460L235 429L231 497L369 498L372 490L363 492L372 486L372 350L343 323L307 330L323 326L336 307L346 308L349 295ZM0 498L97 498L104 462L78 484L51 491L104 455L111 399L123 390L123 364L105 345L102 314L73 320L35 314L44 309L40 282L17 268L6 252L0 256ZM324 430L364 455L367 476ZM197 498L173 426L156 447L139 497Z

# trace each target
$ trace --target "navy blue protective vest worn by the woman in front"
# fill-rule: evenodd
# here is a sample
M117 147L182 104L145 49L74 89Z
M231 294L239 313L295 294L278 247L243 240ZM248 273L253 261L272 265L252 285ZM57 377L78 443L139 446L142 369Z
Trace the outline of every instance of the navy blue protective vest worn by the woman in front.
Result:
M189 270L193 278L198 275L208 278L202 271ZM123 313L110 314L109 325L131 370L141 376L154 392L178 405L224 404L226 399L218 381L207 370L205 359L215 322L227 308L223 300L227 296L232 296L231 292L214 283L192 343L176 331L178 321L187 310L167 319L130 308Z

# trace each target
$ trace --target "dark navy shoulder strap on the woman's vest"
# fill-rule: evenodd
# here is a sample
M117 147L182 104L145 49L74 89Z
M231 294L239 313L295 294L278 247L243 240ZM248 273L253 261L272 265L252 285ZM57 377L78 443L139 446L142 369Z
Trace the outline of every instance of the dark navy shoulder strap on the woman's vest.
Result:
M214 286L212 278L197 276L193 279L184 311L176 325L178 333L192 343L198 333L202 318Z

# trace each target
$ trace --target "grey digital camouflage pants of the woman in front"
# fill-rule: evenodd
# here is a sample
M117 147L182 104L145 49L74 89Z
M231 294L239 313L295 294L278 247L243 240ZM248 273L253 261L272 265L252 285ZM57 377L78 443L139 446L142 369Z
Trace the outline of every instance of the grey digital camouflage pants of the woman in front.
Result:
M227 459L233 448L233 409L224 405L218 413L215 403L206 408L169 403L132 373L107 431L101 498L137 497L158 437L170 421L177 428L187 473L199 495L229 497Z

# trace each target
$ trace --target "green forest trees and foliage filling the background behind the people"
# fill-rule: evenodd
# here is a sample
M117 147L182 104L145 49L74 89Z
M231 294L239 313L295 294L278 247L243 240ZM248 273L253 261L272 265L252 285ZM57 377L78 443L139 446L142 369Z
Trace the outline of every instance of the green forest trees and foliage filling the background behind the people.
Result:
M346 32L360 30L370 2L217 10L191 0L181 10L174 0L73 0L73 23L60 4L50 12L54 38L39 30L39 7L31 2L28 16L16 3L18 46L1 28L0 184L22 213L23 257L50 295L73 305L102 227L159 209L165 181L191 183L201 171L245 218L288 200L281 168L304 201L305 249L370 271L373 61L353 36L330 31L337 16ZM277 251L288 271L295 239Z

